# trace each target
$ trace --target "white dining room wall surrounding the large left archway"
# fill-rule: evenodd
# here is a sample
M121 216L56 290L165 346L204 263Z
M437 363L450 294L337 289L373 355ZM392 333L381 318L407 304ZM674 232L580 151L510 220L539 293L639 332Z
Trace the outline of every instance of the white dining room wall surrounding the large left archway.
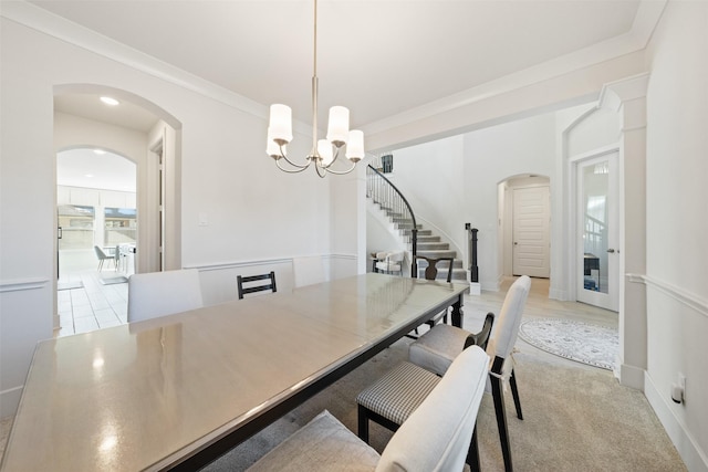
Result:
M332 179L285 175L266 156L264 106L244 111L235 105L240 98L207 97L6 17L1 21L0 417L17 408L35 343L52 337L56 85L124 90L181 123L183 265L216 268L211 275L223 270L231 284L225 266L326 258L331 241L339 241L339 253L360 251L331 225ZM289 150L304 155L308 145L298 134ZM201 213L207 225L199 225Z

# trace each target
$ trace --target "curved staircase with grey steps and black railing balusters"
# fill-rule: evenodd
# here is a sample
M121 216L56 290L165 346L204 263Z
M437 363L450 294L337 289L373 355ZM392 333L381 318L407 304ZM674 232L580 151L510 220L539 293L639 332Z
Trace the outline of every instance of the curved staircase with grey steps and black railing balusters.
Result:
M467 282L467 270L462 264L462 260L457 255L457 251L450 250L450 244L442 242L439 235L433 233L433 230L425 229L423 224L416 222L413 210L400 191L372 166L367 167L366 177L366 197L371 198L374 203L377 203L386 212L388 219L394 223L408 247L408 252L430 259L455 258L452 262L452 280ZM414 238L414 225L418 229L417 238ZM417 262L419 279L425 277L427 264L425 260ZM441 261L437 264L437 279L445 280L447 277L448 263Z

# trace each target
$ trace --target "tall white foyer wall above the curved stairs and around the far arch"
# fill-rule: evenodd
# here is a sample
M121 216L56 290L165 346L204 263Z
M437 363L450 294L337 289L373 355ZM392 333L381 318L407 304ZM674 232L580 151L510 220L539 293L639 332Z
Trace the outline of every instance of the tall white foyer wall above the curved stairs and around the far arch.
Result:
M498 183L521 175L548 176L551 198L559 198L553 187L555 133L555 114L548 113L394 151L391 179L410 201L416 217L441 229L464 251L465 223L479 229L482 290L498 290L503 274L498 241ZM465 261L467 265L466 254Z

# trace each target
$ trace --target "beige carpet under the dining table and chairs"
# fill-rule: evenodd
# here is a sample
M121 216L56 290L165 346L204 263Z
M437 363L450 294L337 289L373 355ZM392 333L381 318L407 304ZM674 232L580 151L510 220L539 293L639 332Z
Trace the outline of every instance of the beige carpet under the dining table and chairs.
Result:
M356 395L406 357L407 343L396 343L205 471L246 469L323 409L356 432ZM510 395L507 416L517 471L686 470L642 392L620 386L606 370L551 364L524 353L516 360L524 419L517 419ZM503 471L489 395L482 400L478 431L482 471ZM371 434L381 452L392 433L372 424Z

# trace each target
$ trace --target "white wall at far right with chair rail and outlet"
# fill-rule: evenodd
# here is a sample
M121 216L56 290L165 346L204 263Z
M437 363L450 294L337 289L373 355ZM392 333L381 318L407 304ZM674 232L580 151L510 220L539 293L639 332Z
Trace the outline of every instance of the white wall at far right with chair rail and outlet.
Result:
M647 54L645 391L690 471L708 470L708 3L668 3ZM678 373L686 402L669 398Z

